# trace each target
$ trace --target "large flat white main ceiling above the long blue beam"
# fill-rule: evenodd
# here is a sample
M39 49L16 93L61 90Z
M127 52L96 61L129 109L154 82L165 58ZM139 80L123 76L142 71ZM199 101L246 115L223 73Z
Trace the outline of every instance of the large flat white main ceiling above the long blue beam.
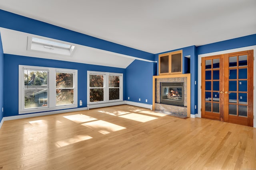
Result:
M256 33L256 0L1 0L0 9L154 54Z

